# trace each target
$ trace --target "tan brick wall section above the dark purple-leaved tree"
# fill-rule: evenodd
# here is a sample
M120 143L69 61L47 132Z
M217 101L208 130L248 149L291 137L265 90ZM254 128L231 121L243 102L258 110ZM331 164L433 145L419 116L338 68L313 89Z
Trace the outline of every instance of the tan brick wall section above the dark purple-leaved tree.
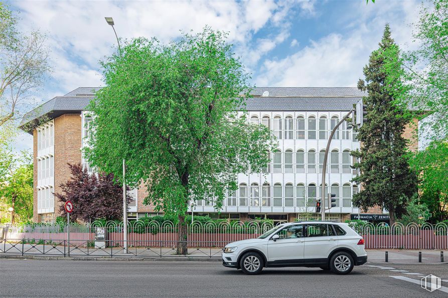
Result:
M55 119L55 193L59 185L70 179L67 163L81 162L80 114L64 114ZM59 200L55 197L55 218L60 215Z

